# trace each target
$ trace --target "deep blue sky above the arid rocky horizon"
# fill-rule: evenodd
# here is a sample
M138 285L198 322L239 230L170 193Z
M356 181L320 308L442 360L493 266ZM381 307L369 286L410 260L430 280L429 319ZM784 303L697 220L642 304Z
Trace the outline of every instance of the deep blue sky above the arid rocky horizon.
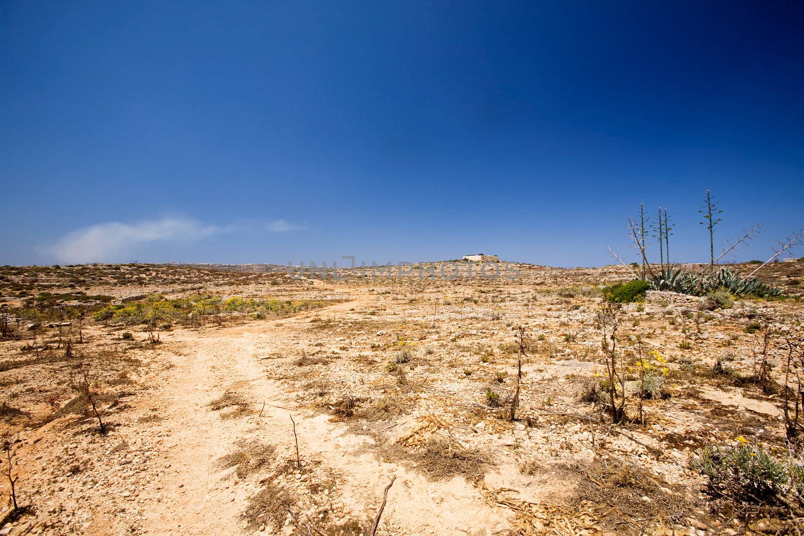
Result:
M0 264L677 261L804 227L801 2L0 2ZM797 252L798 255L804 252Z

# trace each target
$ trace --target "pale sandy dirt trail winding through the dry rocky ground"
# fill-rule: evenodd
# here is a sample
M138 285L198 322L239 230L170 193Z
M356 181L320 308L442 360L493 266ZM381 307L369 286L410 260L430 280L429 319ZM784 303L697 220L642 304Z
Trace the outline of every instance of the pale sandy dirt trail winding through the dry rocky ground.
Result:
M310 314L346 317L357 314L350 309L370 301L371 295L354 293L350 301ZM393 475L396 482L383 514L386 534L490 534L508 526L504 513L490 509L478 490L459 477L433 482L397 464L383 463L371 453L358 454L355 451L370 439L330 423L327 415L298 408L280 383L266 377L261 359L281 352L285 345L303 345L295 331L310 321L310 314L195 333L177 331L170 338L174 366L153 397L138 404L158 408L163 419L150 428L150 436L158 438L154 464L162 467L162 473L139 490L146 507L137 532L253 532L240 516L249 497L259 490L260 475L237 481L218 460L238 440L262 440L276 445L280 456L292 457L291 413L302 458L342 477L337 493L343 510L340 521L372 518ZM222 419L208 404L225 391L243 395L255 413ZM259 415L256 411L264 402Z

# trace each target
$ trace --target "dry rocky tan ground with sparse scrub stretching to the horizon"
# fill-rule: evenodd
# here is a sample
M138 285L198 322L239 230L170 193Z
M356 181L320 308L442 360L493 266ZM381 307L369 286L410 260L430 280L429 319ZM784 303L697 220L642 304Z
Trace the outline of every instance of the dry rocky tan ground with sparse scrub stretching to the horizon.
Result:
M376 534L772 533L773 519L729 519L691 462L708 445L786 448L773 385L780 330L804 320L799 264L773 267L786 300L707 310L648 293L623 305L618 425L599 390L599 288L630 279L626 267L519 264L512 280L6 268L0 433L23 511L3 487L0 534L370 534L386 491ZM215 313L155 335L89 315L26 329L31 308L151 293L324 306ZM777 334L760 386L745 378L764 325ZM640 355L656 384L644 400Z

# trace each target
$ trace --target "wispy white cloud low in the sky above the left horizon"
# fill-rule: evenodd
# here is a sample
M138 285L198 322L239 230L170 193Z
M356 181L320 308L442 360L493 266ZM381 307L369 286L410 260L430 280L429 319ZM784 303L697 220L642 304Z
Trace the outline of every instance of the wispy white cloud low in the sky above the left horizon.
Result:
M162 218L137 223L96 223L72 231L46 248L59 261L66 264L109 262L126 260L138 246L153 242L195 242L224 232L251 227L248 224L231 224L224 227L207 225L194 219ZM293 231L293 223L277 219L265 223L270 232Z

